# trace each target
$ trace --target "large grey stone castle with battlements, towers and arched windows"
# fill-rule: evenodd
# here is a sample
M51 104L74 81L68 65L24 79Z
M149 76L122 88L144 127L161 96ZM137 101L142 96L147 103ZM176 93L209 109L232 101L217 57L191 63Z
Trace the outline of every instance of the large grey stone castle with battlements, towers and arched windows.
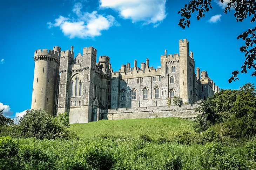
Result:
M179 54L165 54L161 67L134 60L113 72L108 56L83 48L74 58L73 46L61 51L36 50L31 109L68 112L70 123L100 119L195 117L195 102L219 92L206 71L196 68L187 39L179 40ZM173 103L174 96L184 105ZM167 106L167 101L171 106Z

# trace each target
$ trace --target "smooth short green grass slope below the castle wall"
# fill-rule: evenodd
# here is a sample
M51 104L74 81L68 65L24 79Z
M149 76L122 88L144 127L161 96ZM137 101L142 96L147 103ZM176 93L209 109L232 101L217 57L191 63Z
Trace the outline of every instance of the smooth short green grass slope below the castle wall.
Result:
M191 120L181 118L122 119L70 124L69 129L76 131L82 138L91 138L99 134L132 137L138 137L140 134L148 134L151 138L157 138L161 133L171 137L181 131L194 132L194 124Z

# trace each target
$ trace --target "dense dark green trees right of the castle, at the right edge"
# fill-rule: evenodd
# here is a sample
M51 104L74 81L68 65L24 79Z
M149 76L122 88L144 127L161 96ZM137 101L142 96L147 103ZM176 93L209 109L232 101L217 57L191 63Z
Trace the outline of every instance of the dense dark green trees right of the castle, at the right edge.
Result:
M247 83L239 90L221 90L208 97L198 108L202 114L196 119L196 131L202 132L212 125L220 126L221 133L234 138L256 135L256 90Z

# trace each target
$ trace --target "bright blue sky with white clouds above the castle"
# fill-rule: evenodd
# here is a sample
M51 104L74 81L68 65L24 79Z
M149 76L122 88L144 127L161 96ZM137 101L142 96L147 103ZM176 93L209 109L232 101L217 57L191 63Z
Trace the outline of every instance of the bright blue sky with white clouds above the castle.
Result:
M224 0L227 2L228 0ZM237 36L252 28L250 20L237 23L234 11L224 14L223 6L212 1L204 18L191 17L189 28L178 26L178 11L188 0L0 0L0 108L9 117L20 116L31 108L34 51L61 50L74 46L75 54L93 46L97 56L107 55L114 71L134 59L149 58L149 65L160 66L160 56L178 53L178 40L187 38L194 52L195 66L222 89L238 89L255 77L239 75L228 83L231 72L240 69L244 45Z

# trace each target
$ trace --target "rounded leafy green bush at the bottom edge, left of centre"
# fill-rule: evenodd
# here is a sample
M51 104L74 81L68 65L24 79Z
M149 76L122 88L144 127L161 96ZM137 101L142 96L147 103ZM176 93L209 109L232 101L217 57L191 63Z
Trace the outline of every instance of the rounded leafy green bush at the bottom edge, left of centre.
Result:
M115 162L112 153L94 144L79 149L75 160L76 164L82 165L84 168L91 167L100 170L110 169Z

